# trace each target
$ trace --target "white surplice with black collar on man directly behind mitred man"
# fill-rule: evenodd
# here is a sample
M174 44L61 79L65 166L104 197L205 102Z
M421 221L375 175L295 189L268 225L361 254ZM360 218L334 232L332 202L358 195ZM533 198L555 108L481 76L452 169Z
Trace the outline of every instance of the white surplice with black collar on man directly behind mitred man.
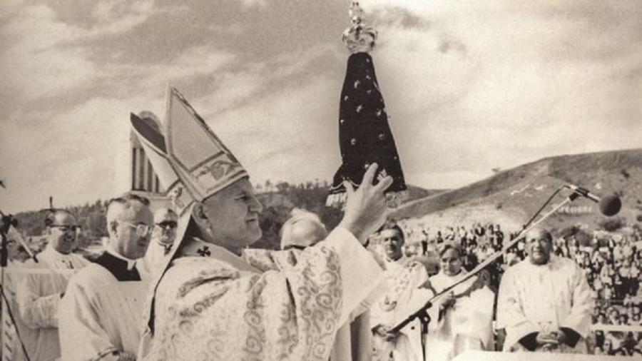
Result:
M62 360L136 355L149 282L135 263L107 250L71 278L59 316Z

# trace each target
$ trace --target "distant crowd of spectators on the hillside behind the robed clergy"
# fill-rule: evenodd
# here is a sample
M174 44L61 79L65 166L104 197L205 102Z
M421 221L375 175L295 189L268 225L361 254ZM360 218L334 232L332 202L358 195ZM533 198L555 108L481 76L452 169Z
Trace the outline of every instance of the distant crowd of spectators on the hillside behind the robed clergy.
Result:
M506 240L519 234L506 230L497 223L471 223L434 228L429 225L401 221L408 235L408 255L436 257L439 245L455 241L464 250L464 267L472 270L489 255L501 250ZM595 230L588 243L580 243L574 236L554 237L552 253L574 260L586 274L595 307L591 347L596 354L642 355L642 331L618 331L603 326L641 326L642 294L642 233L639 228L628 232L613 233ZM501 275L511 265L526 258L524 242L520 241L506 250L489 266L490 286L499 288ZM433 263L436 263L434 261Z

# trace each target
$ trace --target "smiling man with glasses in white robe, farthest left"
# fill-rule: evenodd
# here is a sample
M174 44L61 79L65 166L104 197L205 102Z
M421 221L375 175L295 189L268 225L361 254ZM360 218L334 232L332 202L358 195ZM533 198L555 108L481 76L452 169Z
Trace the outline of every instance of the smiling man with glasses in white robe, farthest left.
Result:
M49 269L49 273L16 274L18 332L29 360L56 360L58 343L58 308L72 270L88 265L81 255L71 253L76 246L76 218L67 210L48 215L47 243L37 255L38 263L27 260L24 267ZM25 359L26 360L26 359Z

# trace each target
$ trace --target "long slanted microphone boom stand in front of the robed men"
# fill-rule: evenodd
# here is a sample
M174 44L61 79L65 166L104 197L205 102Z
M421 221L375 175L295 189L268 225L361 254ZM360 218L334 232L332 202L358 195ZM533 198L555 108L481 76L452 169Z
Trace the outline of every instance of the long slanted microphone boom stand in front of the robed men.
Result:
M541 218L539 218L539 220L534 222L535 218L537 218L537 215L539 215L539 213L541 213L541 211L544 210L544 208L546 208L546 205L548 205L551 202L551 200L557 195L557 193L559 193L562 189L564 189L564 185L558 188L549 197L549 199L547 199L546 202L544 202L544 205L542 205L539 208L539 210L536 211L535 215L533 215L533 217L521 228L521 230L516 235L516 237L513 240L510 240L509 243L506 243L506 245L504 245L504 247L501 248L501 250L496 251L495 253L490 255L489 258L486 258L484 262L479 263L477 267L473 268L469 273L464 275L464 278L453 283L452 285L449 285L447 288L444 288L444 290L442 290L441 292L432 296L432 298L430 298L421 308L419 308L419 310L417 310L416 312L413 312L405 320L403 320L402 322L399 322L398 325L392 327L390 332L392 333L399 332L400 330L402 330L402 328L406 327L406 325L408 325L410 322L412 322L412 320L414 320L417 317L419 317L419 319L423 320L424 322L429 322L430 317L428 315L427 310L432 307L432 302L434 302L434 300L437 300L437 298L440 298L442 297L442 295L449 293L452 289L456 288L458 285L461 285L462 283L472 278L474 275L477 275L477 273L481 272L481 270L484 270L484 268L486 268L488 265L493 263L494 260L499 258L500 255L504 254L506 250L516 245L522 238L524 238L524 235L528 233L529 230L535 228L537 225L539 225L539 223L544 221L546 218L549 218L552 214L556 213L557 210L559 210L559 208L562 208L567 203L570 203L576 200L581 195L580 193L577 193L577 192L571 193L571 195L569 195L568 197L566 197L566 199L564 199L564 202L559 203L559 205L556 205L551 211L549 211L549 213L542 215Z

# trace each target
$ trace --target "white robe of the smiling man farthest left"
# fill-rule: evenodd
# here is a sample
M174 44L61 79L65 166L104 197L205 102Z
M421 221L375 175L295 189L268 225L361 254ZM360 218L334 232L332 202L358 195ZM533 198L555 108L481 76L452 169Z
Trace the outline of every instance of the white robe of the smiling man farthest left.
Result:
M24 268L48 272L19 273L16 280L16 303L19 320L16 327L24 342L29 360L56 360L58 343L58 308L73 270L88 265L81 255L58 252L51 245L37 255L38 263L27 260Z

